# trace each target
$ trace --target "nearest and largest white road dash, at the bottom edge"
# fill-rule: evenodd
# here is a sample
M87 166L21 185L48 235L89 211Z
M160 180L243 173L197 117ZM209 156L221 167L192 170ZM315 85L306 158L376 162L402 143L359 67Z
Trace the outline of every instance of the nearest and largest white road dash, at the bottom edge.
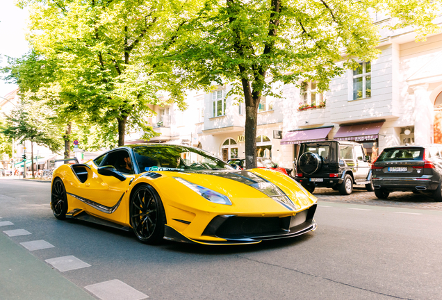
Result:
M84 288L101 300L141 300L149 298L147 294L143 294L118 279L88 285Z

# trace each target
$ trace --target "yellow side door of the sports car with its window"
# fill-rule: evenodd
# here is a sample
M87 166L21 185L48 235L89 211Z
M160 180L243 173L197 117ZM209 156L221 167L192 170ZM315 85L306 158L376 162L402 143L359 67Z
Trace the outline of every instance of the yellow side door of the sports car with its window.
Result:
M92 162L88 163L90 168L85 168L88 172L88 178L77 188L70 189L72 190L71 195L83 201L87 205L85 209L91 213L97 213L97 215L105 217L106 214L115 212L120 206L134 175L123 174L126 180L121 181L115 176L99 174L99 167L112 166L118 170L122 167L124 157L128 155L129 151L126 149L118 149L109 152L100 160L99 165ZM89 208L95 208L95 210L90 210Z

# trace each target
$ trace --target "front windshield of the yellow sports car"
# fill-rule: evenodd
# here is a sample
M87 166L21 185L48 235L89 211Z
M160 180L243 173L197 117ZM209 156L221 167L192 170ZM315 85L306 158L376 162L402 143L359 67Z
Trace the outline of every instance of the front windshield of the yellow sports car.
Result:
M234 169L206 151L184 146L140 146L133 148L138 168L145 171Z

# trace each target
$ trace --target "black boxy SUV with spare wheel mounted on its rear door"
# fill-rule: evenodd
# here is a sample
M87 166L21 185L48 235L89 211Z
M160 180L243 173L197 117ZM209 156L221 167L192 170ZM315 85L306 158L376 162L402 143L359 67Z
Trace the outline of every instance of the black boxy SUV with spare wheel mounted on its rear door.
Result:
M295 179L311 193L318 186L348 195L354 184L365 185L373 192L368 159L357 142L304 142L300 144Z

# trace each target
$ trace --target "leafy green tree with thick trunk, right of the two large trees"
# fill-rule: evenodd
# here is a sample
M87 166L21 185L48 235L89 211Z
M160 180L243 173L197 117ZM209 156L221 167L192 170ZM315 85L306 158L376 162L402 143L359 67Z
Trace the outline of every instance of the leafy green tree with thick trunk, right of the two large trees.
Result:
M246 106L246 167L256 167L256 118L271 85L318 81L327 90L334 76L379 51L373 15L394 26L415 26L418 38L439 30L432 21L441 0L208 0L179 28L170 57L198 87L231 84ZM338 64L338 62L342 62Z

